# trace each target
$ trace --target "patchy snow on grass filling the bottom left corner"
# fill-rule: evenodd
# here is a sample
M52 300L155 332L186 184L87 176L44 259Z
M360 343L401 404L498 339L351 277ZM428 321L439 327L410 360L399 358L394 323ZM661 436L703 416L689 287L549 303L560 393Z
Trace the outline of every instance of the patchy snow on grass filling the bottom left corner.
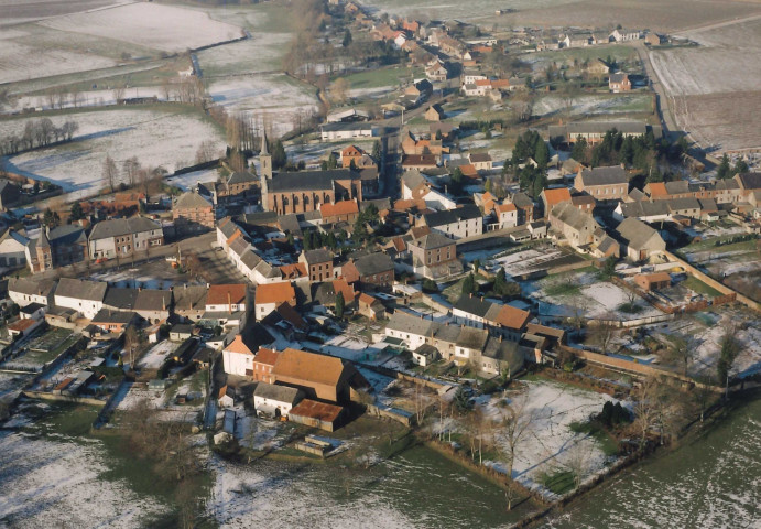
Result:
M0 434L0 520L18 529L59 527L133 528L167 511L139 496L109 471L100 442L48 441L20 432ZM96 522L97 521L97 522Z

